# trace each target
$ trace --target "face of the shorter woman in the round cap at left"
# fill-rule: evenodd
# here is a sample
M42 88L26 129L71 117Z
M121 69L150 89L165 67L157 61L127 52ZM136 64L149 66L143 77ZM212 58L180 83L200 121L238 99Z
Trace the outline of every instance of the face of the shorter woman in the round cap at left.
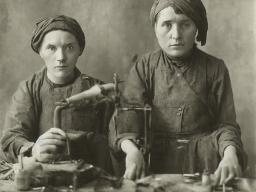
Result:
M62 30L47 33L39 49L51 77L59 80L73 75L80 51L77 38Z

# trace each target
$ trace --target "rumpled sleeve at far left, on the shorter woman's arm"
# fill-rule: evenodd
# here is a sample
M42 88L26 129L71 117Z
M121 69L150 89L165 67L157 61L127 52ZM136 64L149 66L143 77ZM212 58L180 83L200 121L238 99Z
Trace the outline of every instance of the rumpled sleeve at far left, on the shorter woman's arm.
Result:
M34 145L36 113L29 91L32 86L29 84L30 81L19 84L6 115L3 136L0 140L0 158L8 162L16 162L20 153L26 154Z

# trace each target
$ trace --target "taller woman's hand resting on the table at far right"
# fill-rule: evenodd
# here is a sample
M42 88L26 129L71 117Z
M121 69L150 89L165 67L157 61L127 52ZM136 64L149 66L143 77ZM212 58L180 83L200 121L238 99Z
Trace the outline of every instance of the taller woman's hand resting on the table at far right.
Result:
M234 177L242 176L242 170L236 155L236 148L233 145L229 145L225 149L223 159L214 175L215 185L222 185Z

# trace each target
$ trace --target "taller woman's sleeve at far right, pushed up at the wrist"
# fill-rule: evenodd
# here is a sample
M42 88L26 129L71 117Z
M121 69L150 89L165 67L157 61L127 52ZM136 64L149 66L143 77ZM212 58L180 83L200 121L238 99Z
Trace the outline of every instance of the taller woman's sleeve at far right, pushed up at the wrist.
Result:
M226 147L229 145L235 146L240 165L244 170L248 158L243 150L241 129L236 122L229 71L223 60L221 60L221 65L214 74L212 94L215 98L215 122L217 125L217 130L214 133L219 146L219 154L223 158Z

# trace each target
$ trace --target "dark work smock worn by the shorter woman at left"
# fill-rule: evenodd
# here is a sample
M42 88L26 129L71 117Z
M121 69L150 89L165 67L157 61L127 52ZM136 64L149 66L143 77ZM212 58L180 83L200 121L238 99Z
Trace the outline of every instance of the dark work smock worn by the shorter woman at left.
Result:
M73 82L66 85L52 83L46 75L46 67L35 73L29 80L21 82L13 96L10 111L7 112L4 134L1 142L1 159L14 162L17 155L34 145L37 138L53 127L54 103L90 89L96 83L104 84L98 79L81 74L75 68ZM91 143L76 146L73 143L71 155L75 158L88 152L86 160L95 166L105 166L110 160L108 154L108 124L114 107L106 102L98 104L93 98L82 107L63 110L61 113L61 129L86 133L95 132ZM99 145L99 143L101 143ZM23 147L23 148L22 148ZM110 165L108 165L110 166Z

